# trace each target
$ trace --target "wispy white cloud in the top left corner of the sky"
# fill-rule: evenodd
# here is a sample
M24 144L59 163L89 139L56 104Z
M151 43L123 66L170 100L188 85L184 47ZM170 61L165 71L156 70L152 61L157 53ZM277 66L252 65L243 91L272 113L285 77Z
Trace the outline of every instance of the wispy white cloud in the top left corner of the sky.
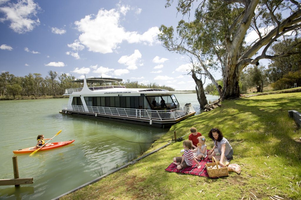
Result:
M39 26L39 18L36 14L41 8L33 0L17 1L17 3L9 3L0 7L0 11L4 13L5 17L0 18L0 22L10 21L10 28L17 33L25 33L32 31L35 26Z

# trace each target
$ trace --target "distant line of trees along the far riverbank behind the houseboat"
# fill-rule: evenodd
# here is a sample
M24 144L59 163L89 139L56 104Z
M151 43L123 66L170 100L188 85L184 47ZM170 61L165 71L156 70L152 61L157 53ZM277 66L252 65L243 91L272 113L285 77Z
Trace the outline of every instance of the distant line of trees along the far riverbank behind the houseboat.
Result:
M48 75L43 78L41 74L29 73L24 77L14 76L8 71L0 75L0 96L56 96L63 95L65 89L82 87L82 83L73 83L76 80L73 75L61 74L55 71L48 71ZM138 81L127 80L127 82L120 83L127 88L157 88L175 91L169 86L159 86L157 83L142 84ZM99 84L98 84L99 85ZM97 86L97 84L96 84Z

